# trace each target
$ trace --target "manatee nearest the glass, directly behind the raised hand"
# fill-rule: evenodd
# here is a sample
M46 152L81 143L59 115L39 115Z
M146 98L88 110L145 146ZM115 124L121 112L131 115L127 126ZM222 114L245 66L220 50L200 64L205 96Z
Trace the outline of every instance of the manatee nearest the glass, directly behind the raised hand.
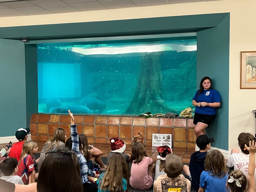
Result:
M92 111L89 108L82 105L59 106L51 108L50 113L69 113L68 110L70 110L71 113L92 113Z

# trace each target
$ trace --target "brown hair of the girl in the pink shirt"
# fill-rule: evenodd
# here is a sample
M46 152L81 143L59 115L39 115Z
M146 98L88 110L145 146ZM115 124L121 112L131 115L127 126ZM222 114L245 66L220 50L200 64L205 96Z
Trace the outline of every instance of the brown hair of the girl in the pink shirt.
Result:
M133 144L131 154L131 160L135 160L133 163L140 163L144 157L148 157L144 144L141 142Z

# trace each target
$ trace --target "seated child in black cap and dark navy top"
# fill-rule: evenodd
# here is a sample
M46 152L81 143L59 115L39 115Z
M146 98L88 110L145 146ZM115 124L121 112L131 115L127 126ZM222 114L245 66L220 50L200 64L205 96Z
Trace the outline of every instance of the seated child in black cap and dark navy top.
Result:
M189 167L187 165L183 166L184 173L190 177L191 185L196 191L199 190L200 175L205 170L207 151L211 148L213 142L214 139L207 135L197 137L196 144L200 150L191 154Z

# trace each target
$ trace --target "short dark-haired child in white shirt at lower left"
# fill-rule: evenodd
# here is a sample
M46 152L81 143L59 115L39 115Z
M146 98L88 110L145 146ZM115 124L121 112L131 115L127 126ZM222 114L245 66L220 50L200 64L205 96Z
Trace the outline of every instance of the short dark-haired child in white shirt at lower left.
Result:
M0 164L0 170L3 172L4 176L0 179L4 179L5 181L24 185L20 176L14 175L18 171L18 161L17 159L11 157L3 160Z

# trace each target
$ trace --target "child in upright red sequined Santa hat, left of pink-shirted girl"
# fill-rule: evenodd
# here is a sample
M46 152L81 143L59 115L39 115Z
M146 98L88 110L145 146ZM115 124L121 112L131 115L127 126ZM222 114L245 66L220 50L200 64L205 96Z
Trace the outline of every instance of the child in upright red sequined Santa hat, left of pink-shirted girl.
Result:
M125 157L127 163L130 162L131 155L124 153L126 145L119 137L114 137L110 139L111 142L111 152L108 154L108 161L113 153L122 153Z

